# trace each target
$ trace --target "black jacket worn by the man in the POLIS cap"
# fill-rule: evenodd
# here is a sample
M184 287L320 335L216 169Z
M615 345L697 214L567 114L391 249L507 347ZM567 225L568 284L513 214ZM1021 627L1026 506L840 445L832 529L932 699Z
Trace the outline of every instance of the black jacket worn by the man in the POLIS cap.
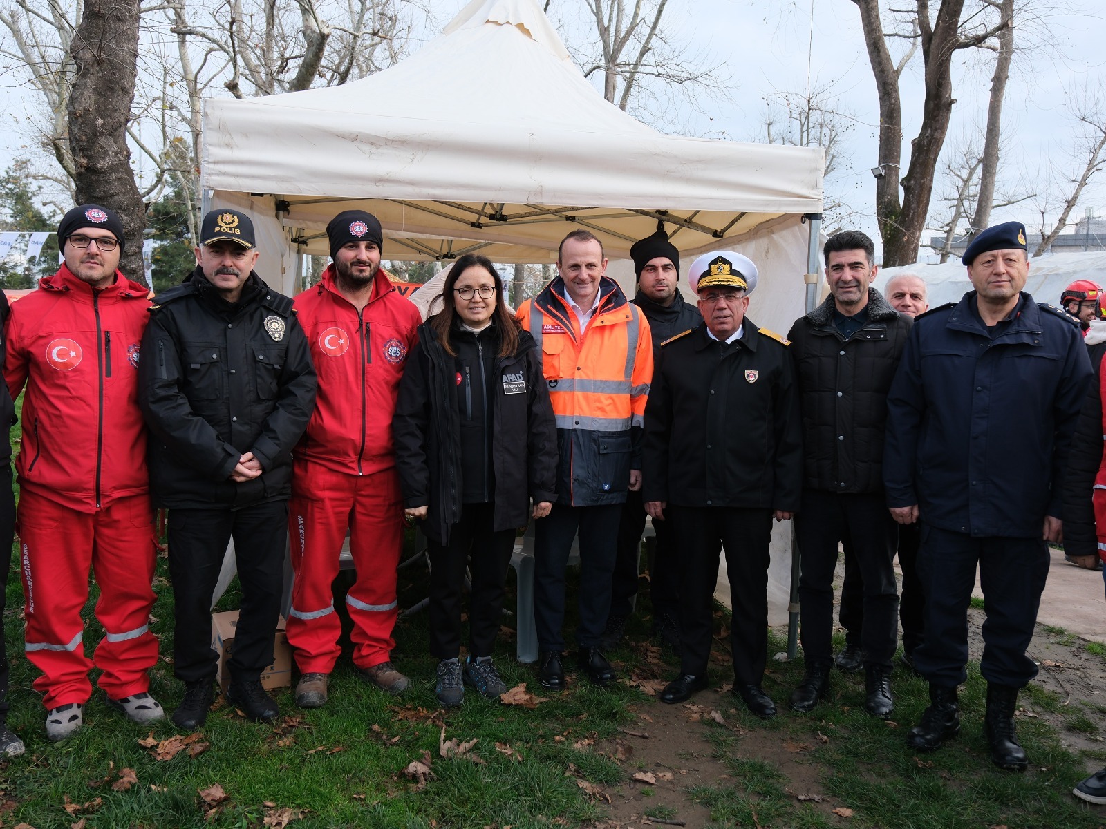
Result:
M197 267L154 298L138 403L150 428L158 506L250 506L286 499L292 447L315 406L315 369L292 301L255 273L228 303ZM230 474L252 452L262 474Z

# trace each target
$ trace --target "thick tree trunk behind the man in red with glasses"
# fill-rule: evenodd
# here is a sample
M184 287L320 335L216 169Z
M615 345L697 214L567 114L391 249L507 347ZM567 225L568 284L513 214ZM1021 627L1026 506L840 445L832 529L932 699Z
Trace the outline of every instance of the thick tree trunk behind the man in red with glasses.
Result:
M123 220L119 269L143 281L146 208L131 169L126 127L138 59L138 0L84 0L70 55L76 75L69 99L69 137L76 201L111 208Z

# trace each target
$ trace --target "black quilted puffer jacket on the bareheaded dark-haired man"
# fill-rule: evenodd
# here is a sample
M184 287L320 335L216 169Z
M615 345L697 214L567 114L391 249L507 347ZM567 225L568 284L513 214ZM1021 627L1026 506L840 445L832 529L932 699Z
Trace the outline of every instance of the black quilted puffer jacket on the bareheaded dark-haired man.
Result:
M822 492L878 493L883 484L887 392L912 319L868 288L868 322L845 339L834 298L791 326L803 410L803 485Z

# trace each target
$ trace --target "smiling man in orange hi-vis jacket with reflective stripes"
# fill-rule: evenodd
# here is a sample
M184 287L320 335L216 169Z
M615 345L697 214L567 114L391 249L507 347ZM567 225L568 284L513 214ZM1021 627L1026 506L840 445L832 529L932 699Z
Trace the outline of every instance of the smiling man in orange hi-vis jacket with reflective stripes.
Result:
M586 230L561 242L560 275L519 308L542 350L556 416L556 503L538 522L534 617L539 679L564 688L564 568L580 533L578 662L597 685L615 681L599 641L611 609L618 522L627 490L641 486L641 418L653 379L649 323L605 276L603 244Z

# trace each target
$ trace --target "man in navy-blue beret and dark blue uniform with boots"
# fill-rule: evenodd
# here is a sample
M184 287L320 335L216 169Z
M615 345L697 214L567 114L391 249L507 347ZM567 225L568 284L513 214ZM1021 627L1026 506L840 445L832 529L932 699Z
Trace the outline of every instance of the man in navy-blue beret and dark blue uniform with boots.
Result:
M1018 692L1062 541L1064 464L1091 364L1076 321L1022 291L1025 228L988 228L963 254L974 291L917 317L887 397L884 480L900 524L921 522L926 631L915 651L930 706L907 742L932 751L960 731L967 610L979 567L987 622L980 673L992 762L1024 770Z

